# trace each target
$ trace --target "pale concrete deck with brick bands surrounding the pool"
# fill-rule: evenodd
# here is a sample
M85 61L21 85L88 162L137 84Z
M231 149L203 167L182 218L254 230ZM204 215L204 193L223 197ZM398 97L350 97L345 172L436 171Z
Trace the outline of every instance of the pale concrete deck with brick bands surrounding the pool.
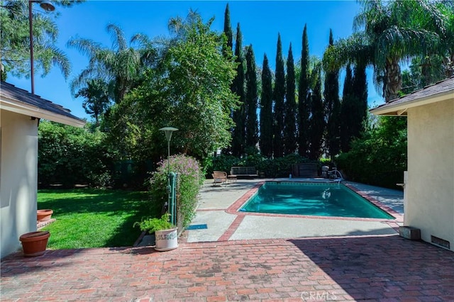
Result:
M238 179L223 186L206 180L201 189L199 207L187 230L187 242L253 240L298 237L339 237L359 235L396 235L403 223L402 191L343 181L362 196L380 203L397 216L395 220L367 218L332 218L316 216L274 215L236 211L254 188L266 180L324 181L323 179ZM206 225L206 228L204 226ZM199 228L199 229L197 229Z

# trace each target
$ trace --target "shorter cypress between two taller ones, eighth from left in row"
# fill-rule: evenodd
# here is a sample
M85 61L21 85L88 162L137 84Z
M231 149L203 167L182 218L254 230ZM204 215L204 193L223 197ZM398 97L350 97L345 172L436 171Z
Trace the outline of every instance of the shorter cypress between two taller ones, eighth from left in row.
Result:
M311 94L311 116L309 118L309 158L319 160L323 133L325 131L325 116L323 99L321 97L321 66L312 71L315 79L314 91Z

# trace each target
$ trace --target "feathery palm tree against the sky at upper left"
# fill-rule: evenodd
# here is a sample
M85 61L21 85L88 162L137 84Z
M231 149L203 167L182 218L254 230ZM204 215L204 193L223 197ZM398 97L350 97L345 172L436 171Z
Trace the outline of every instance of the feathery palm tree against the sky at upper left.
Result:
M150 56L137 48L128 47L123 30L115 24L109 24L106 29L113 40L112 49L102 47L99 43L84 38L74 38L68 41L68 46L77 48L82 54L89 57L89 65L72 80L70 87L74 94L76 89L87 86L90 79L103 79L109 83L113 99L116 104L119 104L125 94L135 85L145 58L150 58ZM142 43L147 42L143 35L135 35L132 42L135 40ZM150 44L146 45L150 46ZM147 49L150 53L151 49Z

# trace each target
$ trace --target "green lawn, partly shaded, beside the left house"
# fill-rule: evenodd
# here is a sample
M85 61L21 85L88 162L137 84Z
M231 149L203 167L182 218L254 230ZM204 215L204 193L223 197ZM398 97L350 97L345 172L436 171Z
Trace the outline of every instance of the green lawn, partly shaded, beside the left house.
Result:
M38 209L54 211L48 248L132 246L140 235L135 221L150 213L148 192L57 189L38 191Z

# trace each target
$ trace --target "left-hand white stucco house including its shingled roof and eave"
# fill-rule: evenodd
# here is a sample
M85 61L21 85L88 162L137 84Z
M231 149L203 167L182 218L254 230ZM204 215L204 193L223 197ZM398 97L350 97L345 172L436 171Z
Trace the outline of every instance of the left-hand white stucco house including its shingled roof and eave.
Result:
M0 82L0 257L21 248L19 237L36 230L38 123L40 118L83 127L70 111Z

